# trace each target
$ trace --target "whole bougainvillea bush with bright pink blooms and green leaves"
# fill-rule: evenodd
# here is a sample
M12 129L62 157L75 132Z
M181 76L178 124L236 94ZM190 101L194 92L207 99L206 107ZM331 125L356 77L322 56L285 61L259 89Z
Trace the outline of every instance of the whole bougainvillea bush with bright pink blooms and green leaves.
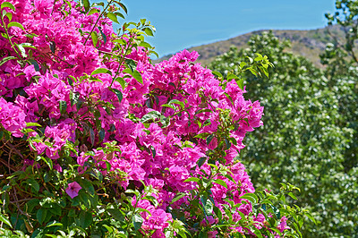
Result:
M114 32L118 1L0 3L1 235L301 235L299 190L254 193L235 159L263 115L237 76L185 50L151 64L155 29Z

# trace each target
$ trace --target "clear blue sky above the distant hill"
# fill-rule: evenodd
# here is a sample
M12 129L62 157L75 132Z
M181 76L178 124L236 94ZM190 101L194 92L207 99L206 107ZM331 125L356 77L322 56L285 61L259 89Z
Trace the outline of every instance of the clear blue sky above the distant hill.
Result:
M146 18L157 29L149 43L159 57L233 38L251 30L310 30L326 26L335 0L123 0L125 21ZM120 22L124 22L123 20Z

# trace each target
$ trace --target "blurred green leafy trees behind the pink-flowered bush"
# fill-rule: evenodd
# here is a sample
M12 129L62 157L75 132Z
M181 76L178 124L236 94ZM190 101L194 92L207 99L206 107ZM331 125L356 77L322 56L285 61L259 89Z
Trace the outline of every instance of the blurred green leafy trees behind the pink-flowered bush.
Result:
M275 65L268 68L268 80L243 73L247 94L265 106L263 129L245 138L247 148L240 154L253 184L262 189L285 182L301 189L301 199L294 203L311 210L318 223L304 225L303 237L353 237L358 234L353 222L358 220L354 64L343 55L336 60L348 65L351 76L329 66L322 72L288 53L289 43L280 42L272 32L251 37L248 45L246 50L231 48L210 67L224 75L240 72L240 64L252 52L267 55Z

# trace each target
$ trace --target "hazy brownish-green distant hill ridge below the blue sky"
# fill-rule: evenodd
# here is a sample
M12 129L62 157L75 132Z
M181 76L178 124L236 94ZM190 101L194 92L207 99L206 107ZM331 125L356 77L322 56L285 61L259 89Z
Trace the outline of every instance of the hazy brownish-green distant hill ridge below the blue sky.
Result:
M287 49L287 51L292 52L295 55L303 55L304 57L310 59L316 66L323 67L323 65L320 64L320 54L325 49L326 44L328 42L332 42L332 38L329 36L328 30L337 38L344 38L344 30L337 25L316 30L272 30L272 32L279 39L289 39L291 41L291 48ZM198 62L208 65L215 57L223 55L232 46L239 49L247 47L247 42L251 36L260 34L263 31L268 30L255 30L234 38L217 41L207 45L201 45L199 47L191 47L188 48L188 50L197 51L200 54ZM171 56L172 55L165 55L155 62L167 60Z

